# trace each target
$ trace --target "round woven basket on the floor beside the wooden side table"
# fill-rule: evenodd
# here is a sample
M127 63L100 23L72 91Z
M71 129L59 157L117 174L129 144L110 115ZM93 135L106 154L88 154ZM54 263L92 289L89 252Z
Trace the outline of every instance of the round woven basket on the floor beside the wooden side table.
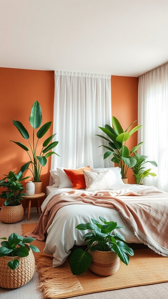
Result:
M0 219L4 223L16 223L23 219L24 208L20 203L17 206L9 207L2 205Z

